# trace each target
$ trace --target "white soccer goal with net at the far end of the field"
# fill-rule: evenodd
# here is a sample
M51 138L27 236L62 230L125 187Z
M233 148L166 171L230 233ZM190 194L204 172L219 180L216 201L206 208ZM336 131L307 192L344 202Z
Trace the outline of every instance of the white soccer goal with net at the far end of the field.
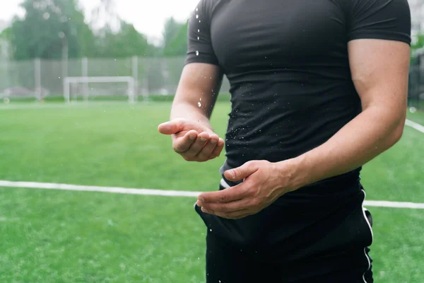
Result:
M132 76L69 76L64 79L64 99L66 103L94 98L126 98L134 103L136 80Z

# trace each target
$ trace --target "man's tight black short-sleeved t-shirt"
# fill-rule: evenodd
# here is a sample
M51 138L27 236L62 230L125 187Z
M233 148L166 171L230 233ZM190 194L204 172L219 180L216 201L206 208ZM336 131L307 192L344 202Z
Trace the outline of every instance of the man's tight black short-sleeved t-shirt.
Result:
M410 34L407 0L201 0L189 19L186 63L216 64L230 81L222 171L294 158L326 142L362 110L348 42L410 44ZM268 209L273 219L264 212L226 221L198 212L209 226L225 227L221 236L255 238L268 223L283 225L277 238L287 238L325 219L336 204L362 202L359 171L284 195ZM288 215L298 217L284 220Z

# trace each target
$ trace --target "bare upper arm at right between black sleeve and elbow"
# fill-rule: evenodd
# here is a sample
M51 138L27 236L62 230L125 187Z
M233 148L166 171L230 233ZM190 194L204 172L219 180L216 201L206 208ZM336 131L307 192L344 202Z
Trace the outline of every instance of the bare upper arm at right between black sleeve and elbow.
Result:
M348 54L363 109L382 105L404 111L401 108L406 108L409 45L394 40L352 40Z

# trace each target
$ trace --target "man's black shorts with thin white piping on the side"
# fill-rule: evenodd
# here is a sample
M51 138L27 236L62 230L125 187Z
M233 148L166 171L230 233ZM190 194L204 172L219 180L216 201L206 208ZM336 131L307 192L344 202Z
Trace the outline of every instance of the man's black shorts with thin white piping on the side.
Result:
M208 229L206 282L372 283L372 216L363 209L362 186L353 191L332 209L326 203L324 212L281 200L230 220L196 207Z

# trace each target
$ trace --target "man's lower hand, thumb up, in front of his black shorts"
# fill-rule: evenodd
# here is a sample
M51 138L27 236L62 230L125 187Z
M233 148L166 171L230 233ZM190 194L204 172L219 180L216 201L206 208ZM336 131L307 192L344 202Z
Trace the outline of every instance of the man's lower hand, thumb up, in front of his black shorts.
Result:
M243 183L217 192L204 192L196 204L202 212L227 219L240 219L257 214L278 197L295 190L290 186L288 163L249 161L239 168L225 172L225 178Z

